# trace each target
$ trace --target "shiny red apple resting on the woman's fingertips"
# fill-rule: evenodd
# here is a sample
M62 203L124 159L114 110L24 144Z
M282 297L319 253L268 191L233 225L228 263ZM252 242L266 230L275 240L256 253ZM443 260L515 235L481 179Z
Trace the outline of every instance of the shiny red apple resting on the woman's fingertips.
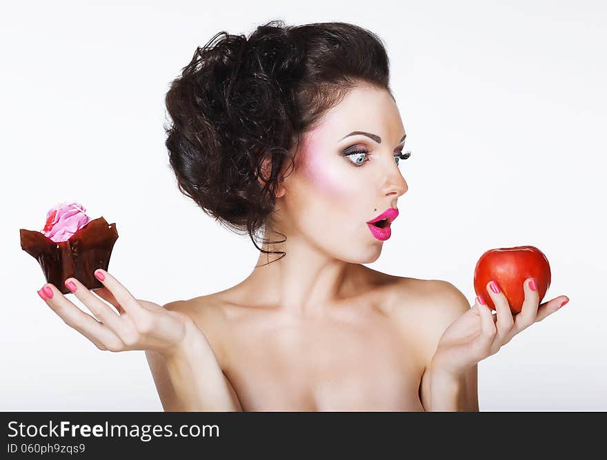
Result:
M550 287L550 264L543 252L534 246L489 249L477 262L474 276L475 293L482 295L490 309L495 310L487 284L494 280L506 295L510 311L520 313L525 292L523 283L535 278L539 302Z

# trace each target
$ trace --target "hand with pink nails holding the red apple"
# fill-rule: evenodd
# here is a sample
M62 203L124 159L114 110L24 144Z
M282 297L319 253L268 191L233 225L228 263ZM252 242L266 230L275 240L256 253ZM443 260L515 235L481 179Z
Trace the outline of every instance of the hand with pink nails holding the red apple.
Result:
M475 305L452 322L441 335L437 351L432 357L432 368L460 377L482 359L495 355L501 346L510 342L519 332L544 320L568 301L566 296L561 295L539 305L539 295L529 287L530 280L531 278L524 282L525 301L521 312L515 315L510 311L508 300L501 289L499 293L493 292L489 282L486 289L497 314L493 315L489 306L481 304L477 297Z

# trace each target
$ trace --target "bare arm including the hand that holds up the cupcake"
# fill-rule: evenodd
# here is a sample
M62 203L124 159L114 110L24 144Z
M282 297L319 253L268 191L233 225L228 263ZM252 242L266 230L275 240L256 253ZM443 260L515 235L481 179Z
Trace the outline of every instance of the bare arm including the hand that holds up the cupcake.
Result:
M81 311L47 283L41 297L68 326L103 351L145 350L165 410L242 410L215 353L184 308L135 299L113 275L97 269L103 288L94 295L76 278L66 286L91 311ZM114 309L106 302L109 302Z

